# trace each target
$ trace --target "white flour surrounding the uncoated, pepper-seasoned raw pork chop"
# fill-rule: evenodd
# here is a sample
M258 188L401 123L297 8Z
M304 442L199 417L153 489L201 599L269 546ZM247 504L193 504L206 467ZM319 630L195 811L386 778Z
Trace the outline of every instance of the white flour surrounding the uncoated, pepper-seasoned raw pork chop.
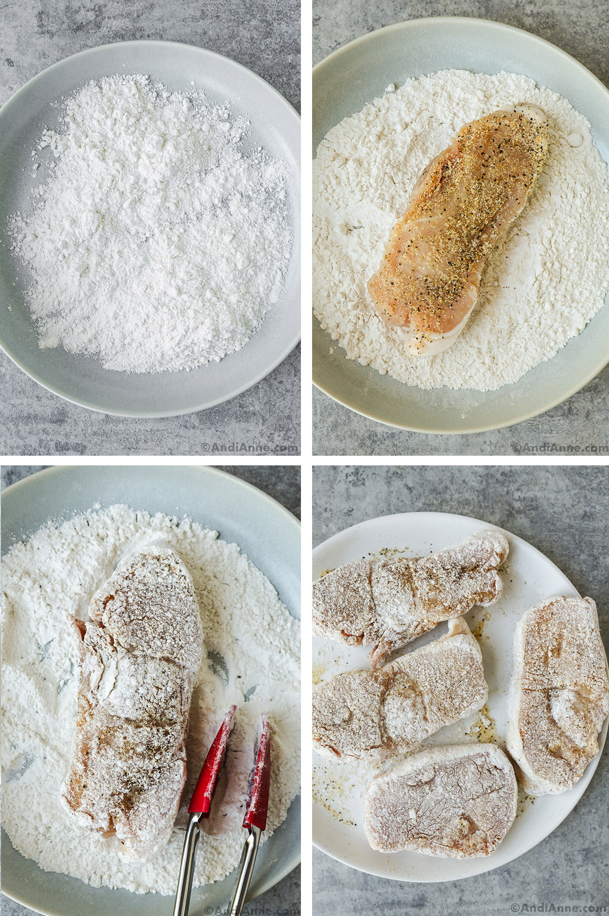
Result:
M441 71L410 79L346 117L313 163L313 300L349 359L408 385L489 391L516 382L582 332L609 287L609 173L588 121L525 76ZM376 314L366 283L420 173L462 125L506 104L549 118L536 189L484 269L479 304L436 356ZM332 341L328 341L331 352Z

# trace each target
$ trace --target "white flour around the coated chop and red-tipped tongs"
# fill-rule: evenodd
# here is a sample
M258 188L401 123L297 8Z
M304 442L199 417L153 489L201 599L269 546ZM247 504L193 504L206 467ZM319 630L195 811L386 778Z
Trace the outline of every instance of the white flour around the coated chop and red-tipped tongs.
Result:
M169 844L153 861L125 863L114 837L90 833L60 803L70 765L78 671L68 615L88 619L92 594L126 552L162 538L194 581L204 634L190 707L189 777ZM299 621L236 544L188 518L114 506L39 529L3 557L2 820L15 848L47 871L95 887L175 893L194 783L223 715L237 704L223 777L205 823L195 885L238 864L257 724L273 732L268 823L285 820L299 791ZM227 774L227 775L226 775Z

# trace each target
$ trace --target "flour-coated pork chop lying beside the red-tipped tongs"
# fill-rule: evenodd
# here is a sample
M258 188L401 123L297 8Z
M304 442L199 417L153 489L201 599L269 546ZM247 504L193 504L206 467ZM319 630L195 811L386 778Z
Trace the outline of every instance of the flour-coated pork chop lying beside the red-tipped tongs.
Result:
M128 861L168 842L186 780L190 697L201 666L199 605L169 547L131 554L73 620L79 700L62 797Z

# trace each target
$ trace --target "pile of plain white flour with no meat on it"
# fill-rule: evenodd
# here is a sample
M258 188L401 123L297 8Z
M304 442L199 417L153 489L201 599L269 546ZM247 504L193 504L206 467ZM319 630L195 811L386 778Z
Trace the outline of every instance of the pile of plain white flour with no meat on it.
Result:
M241 349L283 287L288 163L247 147L227 104L147 76L88 82L62 104L32 153L44 180L9 222L38 345L123 372Z

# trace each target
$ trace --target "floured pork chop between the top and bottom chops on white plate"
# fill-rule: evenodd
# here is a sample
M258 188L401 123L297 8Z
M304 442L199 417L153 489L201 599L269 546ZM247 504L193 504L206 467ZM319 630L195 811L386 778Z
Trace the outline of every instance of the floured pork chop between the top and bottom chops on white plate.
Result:
M313 745L322 757L380 762L414 750L486 702L482 652L462 617L448 636L377 668L313 688Z

